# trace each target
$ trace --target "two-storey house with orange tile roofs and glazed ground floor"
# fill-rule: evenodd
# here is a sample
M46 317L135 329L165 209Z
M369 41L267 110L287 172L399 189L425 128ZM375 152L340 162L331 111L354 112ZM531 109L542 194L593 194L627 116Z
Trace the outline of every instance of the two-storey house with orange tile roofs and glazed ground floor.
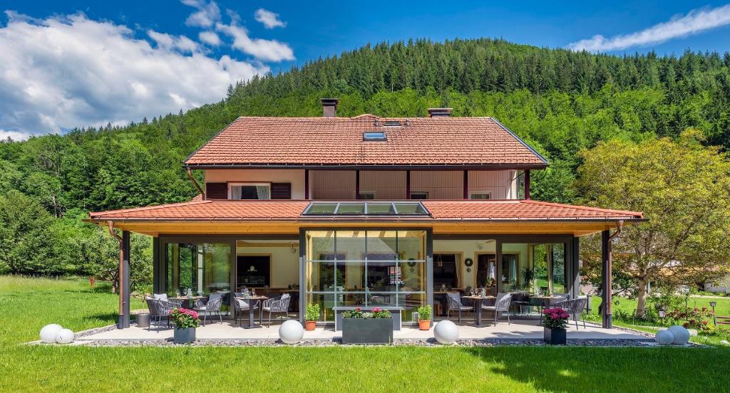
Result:
M634 211L530 198L544 157L491 117L239 117L183 163L192 201L91 213L123 231L120 327L128 326L129 233L154 237L154 291L289 292L331 321L336 306L389 305L402 319L443 289L577 295L580 236L642 221ZM615 233L614 233L615 234ZM611 325L604 307L604 327ZM435 302L435 303L434 303ZM294 306L296 305L296 306Z

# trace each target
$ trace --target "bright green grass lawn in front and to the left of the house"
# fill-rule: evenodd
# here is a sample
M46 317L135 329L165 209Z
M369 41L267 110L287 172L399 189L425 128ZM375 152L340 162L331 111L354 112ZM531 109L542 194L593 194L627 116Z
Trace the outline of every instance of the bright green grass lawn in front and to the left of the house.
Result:
M730 349L587 347L85 348L24 346L40 327L114 322L80 280L0 276L0 390L720 392ZM715 365L715 367L707 367Z

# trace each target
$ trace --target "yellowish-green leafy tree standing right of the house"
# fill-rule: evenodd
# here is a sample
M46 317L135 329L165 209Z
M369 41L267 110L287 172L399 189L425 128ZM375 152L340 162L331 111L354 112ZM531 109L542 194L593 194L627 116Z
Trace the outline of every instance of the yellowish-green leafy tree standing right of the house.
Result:
M623 227L613 271L637 296L643 315L649 282L694 284L730 271L730 160L688 130L677 141L600 143L580 153L577 191L584 203L643 211L648 222ZM600 236L581 244L582 273L600 281Z

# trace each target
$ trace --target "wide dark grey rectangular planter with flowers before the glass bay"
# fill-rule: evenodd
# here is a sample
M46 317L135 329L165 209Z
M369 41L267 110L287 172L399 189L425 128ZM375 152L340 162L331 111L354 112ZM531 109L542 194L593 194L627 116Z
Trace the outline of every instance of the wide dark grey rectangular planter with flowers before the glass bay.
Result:
M342 343L389 344L393 343L393 317L391 311L373 308L363 312L361 308L342 313Z

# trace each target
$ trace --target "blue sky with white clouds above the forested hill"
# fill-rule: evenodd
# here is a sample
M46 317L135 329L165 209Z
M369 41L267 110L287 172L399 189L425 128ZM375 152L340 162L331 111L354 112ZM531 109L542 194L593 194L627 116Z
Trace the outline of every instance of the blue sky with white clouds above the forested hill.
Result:
M218 101L232 81L367 42L488 36L610 53L730 51L721 1L112 3L0 3L9 71L0 73L0 137L191 109Z

